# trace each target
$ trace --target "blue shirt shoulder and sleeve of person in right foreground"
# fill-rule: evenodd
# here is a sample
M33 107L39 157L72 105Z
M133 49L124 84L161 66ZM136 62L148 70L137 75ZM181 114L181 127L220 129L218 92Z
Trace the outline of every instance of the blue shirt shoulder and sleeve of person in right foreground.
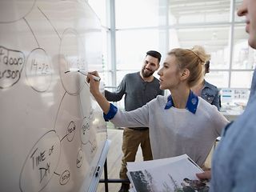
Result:
M223 131L213 161L212 185L216 189L227 186L229 191L256 191L256 182L251 181L256 178L255 106L254 97L243 114Z

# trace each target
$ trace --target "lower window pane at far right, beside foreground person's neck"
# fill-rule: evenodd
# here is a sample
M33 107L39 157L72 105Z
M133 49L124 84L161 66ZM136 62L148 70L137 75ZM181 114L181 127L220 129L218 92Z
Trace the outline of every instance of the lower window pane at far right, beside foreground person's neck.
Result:
M250 88L253 71L231 72L231 85L233 88Z

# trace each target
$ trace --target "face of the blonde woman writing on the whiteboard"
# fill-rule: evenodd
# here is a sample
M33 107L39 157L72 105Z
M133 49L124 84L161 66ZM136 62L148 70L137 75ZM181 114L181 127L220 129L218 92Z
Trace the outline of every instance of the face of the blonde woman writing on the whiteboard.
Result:
M158 71L160 76L160 89L172 90L179 85L178 63L174 55L168 55L162 68Z

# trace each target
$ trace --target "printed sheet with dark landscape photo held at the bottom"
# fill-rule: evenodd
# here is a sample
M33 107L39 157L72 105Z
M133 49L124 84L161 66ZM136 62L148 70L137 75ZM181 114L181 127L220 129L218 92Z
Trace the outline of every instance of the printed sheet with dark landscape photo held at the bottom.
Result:
M137 192L207 192L208 184L195 175L199 172L202 170L186 158L129 174Z

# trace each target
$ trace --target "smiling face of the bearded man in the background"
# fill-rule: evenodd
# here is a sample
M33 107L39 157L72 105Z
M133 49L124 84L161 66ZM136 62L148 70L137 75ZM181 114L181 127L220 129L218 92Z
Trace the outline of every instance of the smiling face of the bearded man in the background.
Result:
M154 74L154 71L158 70L159 63L158 58L154 58L150 55L146 55L142 66L142 76L144 78L149 78L151 75Z

